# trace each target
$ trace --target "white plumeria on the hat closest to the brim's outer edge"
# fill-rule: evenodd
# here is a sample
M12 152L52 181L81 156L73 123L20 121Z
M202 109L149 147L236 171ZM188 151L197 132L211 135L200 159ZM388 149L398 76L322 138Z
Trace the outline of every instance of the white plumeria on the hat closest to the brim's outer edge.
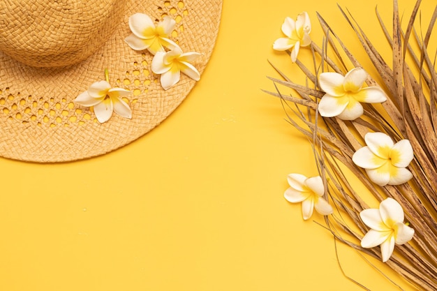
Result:
M156 52L151 61L151 70L161 74L161 86L167 90L179 82L181 72L193 80L200 80L199 71L190 64L200 56L198 52L183 53L180 47L170 52Z

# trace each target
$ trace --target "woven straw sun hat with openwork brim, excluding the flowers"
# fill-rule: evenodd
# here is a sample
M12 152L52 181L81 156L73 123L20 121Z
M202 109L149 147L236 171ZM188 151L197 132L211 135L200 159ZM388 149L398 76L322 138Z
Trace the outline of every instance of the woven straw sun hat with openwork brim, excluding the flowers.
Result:
M124 41L128 21L145 13L175 20L169 38L205 69L218 32L221 0L0 0L0 155L73 161L105 154L157 126L195 85L186 75L168 90L151 71L153 55ZM105 80L131 91L132 117L100 123L74 102Z

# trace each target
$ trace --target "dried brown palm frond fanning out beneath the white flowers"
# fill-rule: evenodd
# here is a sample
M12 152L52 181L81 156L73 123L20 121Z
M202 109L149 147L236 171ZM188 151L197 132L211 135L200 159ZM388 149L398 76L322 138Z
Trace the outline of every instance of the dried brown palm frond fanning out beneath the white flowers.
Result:
M418 0L415 4L408 26L403 30L398 3L394 0L392 35L376 10L380 26L392 49L392 64L387 64L353 16L340 7L342 15L355 31L367 57L376 68L379 74L376 78L383 82L380 87L389 97L385 103L364 105L364 115L359 119L343 121L336 117L325 118L318 115L318 101L324 92L318 86L317 75L323 71L344 75L348 71L346 61L354 67L362 67L320 14L318 20L325 38L321 47L314 42L311 44L315 73L297 60L297 66L306 75L308 82L311 82L311 87L309 84L295 84L275 68L282 79L271 77L276 91L268 93L283 100L286 111L293 112L287 114L290 123L313 144L329 200L338 209L336 214L325 216L327 228L334 237L380 258L379 248L362 248L357 243L369 230L359 215L360 211L369 207L348 182L346 173L343 172L344 165L378 201L386 197L397 200L405 211L406 220L415 229L413 240L397 246L387 265L417 288L437 290L437 73L434 68L435 60L432 60L433 57L427 51L437 19L437 6L422 39L413 27L419 14L420 2ZM419 50L414 50L413 47L418 47ZM327 54L328 50L330 55ZM366 83L379 87L376 78L369 77ZM283 86L296 91L299 96L282 94L278 88ZM295 107L290 106L290 102ZM302 110L302 105L307 110ZM363 146L364 135L374 131L386 133L394 141L410 140L415 158L409 166L413 179L408 183L378 186L369 180L364 170L353 163L352 156ZM353 222L352 226L343 219L347 216Z

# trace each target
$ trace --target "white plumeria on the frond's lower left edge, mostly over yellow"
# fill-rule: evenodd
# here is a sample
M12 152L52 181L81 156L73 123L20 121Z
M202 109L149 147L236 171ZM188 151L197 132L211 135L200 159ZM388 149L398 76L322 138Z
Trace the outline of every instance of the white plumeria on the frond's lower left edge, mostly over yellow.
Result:
M332 214L332 206L323 199L325 186L320 176L307 178L302 174L288 174L290 188L284 193L288 202L302 202L302 216L304 220L313 215L313 209L322 215Z

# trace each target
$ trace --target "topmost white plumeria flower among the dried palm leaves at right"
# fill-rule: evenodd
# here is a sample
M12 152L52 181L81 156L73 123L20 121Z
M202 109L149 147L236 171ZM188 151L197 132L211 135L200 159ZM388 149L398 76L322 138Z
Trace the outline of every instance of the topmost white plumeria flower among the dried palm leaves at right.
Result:
M306 12L297 15L297 19L292 20L286 17L282 24L282 32L287 37L278 38L273 43L274 50L291 50L291 61L294 63L299 53L299 47L306 47L311 44L309 33L311 32L311 22Z

